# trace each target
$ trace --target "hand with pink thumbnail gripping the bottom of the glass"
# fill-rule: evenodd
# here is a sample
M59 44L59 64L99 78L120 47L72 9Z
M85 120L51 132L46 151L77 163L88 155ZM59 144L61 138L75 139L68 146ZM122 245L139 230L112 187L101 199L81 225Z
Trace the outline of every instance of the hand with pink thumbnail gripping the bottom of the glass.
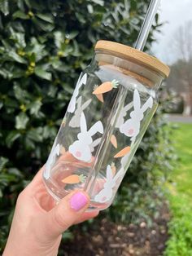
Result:
M55 256L62 232L98 215L98 211L85 213L89 196L82 191L70 193L56 205L46 192L42 170L18 197L2 256Z

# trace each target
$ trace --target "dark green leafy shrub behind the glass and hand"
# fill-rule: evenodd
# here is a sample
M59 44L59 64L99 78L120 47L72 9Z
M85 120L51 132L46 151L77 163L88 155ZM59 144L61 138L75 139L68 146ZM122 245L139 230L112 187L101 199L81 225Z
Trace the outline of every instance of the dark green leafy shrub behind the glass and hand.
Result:
M1 249L16 197L45 163L95 42L107 39L133 46L149 2L0 0ZM160 26L156 15L146 51ZM103 213L114 221L138 222L158 214L156 193L171 168L172 151L163 110L161 105L115 204Z

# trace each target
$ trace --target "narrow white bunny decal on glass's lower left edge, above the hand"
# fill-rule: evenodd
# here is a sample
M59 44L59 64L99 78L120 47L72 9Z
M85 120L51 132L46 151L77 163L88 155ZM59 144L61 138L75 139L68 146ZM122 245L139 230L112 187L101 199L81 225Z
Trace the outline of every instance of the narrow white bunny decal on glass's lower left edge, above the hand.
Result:
M51 149L51 152L50 152L50 156L48 158L48 160L46 161L46 170L44 172L44 177L46 179L49 179L50 178L50 169L55 161L55 157L56 156L59 156L59 153L60 153L60 145L59 143L55 146L56 144L56 140L55 140L55 143L53 145L53 148Z

